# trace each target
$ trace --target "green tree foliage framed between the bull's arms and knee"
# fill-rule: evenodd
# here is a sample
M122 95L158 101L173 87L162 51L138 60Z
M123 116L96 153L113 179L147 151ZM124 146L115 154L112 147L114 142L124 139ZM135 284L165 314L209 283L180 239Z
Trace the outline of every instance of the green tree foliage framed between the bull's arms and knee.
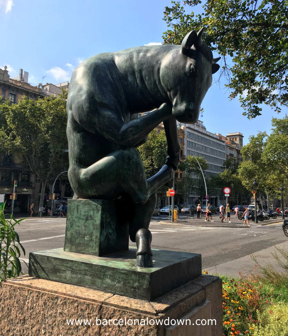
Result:
M138 147L138 152L143 161L147 178L155 175L165 164L167 157L167 140L165 131L159 134L153 130L147 141Z

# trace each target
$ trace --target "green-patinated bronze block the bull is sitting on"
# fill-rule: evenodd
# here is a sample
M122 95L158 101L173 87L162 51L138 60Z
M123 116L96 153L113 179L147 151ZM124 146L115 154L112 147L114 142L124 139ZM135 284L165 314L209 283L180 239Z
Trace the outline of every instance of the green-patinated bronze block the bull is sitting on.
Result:
M121 205L108 200L68 200L64 251L101 256L128 250Z

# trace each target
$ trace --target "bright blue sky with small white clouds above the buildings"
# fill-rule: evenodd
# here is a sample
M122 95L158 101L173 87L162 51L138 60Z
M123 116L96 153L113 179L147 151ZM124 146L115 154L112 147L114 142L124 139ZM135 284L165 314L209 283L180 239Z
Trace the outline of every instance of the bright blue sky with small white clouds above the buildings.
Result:
M19 69L28 82L60 83L70 80L84 59L148 43L162 42L167 29L162 20L170 0L0 0L0 68L7 65L11 77ZM195 10L196 12L196 10ZM214 52L214 57L217 57ZM214 75L218 79L218 74ZM262 116L242 116L237 98L228 100L224 81L212 84L202 107L204 125L213 133L241 132L244 143L258 131L270 132L272 117L283 118L263 106Z

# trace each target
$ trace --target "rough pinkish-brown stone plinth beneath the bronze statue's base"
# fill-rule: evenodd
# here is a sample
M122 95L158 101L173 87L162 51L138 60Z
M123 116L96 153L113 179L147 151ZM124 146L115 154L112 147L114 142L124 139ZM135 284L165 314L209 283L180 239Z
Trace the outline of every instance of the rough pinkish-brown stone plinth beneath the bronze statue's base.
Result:
M222 281L213 276L200 276L150 302L21 276L1 283L0 298L0 335L5 336L222 336ZM82 325L68 325L73 319ZM174 325L175 319L184 319L184 325ZM216 326L197 326L197 319L216 319ZM129 325L134 320L139 325Z

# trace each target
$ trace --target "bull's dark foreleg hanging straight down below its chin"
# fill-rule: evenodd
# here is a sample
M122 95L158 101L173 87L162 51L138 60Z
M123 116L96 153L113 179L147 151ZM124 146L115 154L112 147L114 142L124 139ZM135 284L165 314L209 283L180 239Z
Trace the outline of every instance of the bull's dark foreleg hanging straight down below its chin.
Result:
M169 119L163 122L166 139L167 139L167 161L166 164L171 165L174 170L177 169L178 164L180 162L180 152L181 147L178 140L178 130L176 119L172 116Z

